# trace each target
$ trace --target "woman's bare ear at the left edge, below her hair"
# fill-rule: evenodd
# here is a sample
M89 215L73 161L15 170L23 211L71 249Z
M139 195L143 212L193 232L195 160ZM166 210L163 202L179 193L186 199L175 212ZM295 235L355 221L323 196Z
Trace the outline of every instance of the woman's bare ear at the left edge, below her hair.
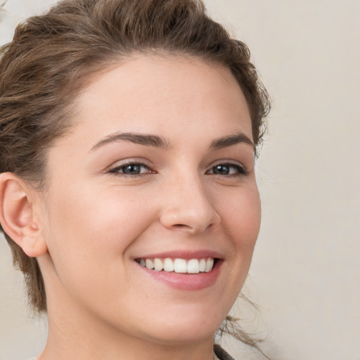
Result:
M47 252L35 200L39 200L39 194L23 179L11 172L0 174L1 226L30 257Z

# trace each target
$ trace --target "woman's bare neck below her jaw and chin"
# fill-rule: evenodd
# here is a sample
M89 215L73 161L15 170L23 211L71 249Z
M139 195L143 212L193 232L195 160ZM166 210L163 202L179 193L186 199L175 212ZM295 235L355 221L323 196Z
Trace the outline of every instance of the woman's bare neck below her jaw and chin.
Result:
M70 314L71 313L71 314ZM39 360L212 360L214 337L191 342L136 338L73 309L56 316L49 309L49 336Z

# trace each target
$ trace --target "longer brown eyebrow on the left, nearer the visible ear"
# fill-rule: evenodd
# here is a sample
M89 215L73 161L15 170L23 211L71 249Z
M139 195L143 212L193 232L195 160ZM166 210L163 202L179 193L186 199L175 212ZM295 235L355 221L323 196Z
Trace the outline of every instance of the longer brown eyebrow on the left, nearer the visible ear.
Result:
M157 135L115 133L106 136L105 139L96 143L91 148L91 150L95 150L96 148L100 148L101 146L107 143L113 143L114 141L119 141L119 140L130 141L131 143L139 143L140 145L144 145L144 146L153 146L154 148L164 148L166 150L172 147L169 141Z

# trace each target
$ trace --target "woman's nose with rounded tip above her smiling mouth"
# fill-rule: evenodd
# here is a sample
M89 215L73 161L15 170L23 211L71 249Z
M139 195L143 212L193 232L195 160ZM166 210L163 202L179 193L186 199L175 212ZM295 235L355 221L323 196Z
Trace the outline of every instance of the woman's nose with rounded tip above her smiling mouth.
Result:
M176 179L164 189L160 222L167 229L179 229L193 235L220 223L212 199L200 179Z

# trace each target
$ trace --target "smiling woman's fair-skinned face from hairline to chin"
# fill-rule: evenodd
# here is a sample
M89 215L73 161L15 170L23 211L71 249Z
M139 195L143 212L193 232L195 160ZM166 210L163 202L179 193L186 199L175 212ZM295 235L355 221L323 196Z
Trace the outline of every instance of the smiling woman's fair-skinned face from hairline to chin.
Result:
M196 58L139 56L94 77L75 113L48 158L50 320L163 344L212 338L260 223L236 80Z

